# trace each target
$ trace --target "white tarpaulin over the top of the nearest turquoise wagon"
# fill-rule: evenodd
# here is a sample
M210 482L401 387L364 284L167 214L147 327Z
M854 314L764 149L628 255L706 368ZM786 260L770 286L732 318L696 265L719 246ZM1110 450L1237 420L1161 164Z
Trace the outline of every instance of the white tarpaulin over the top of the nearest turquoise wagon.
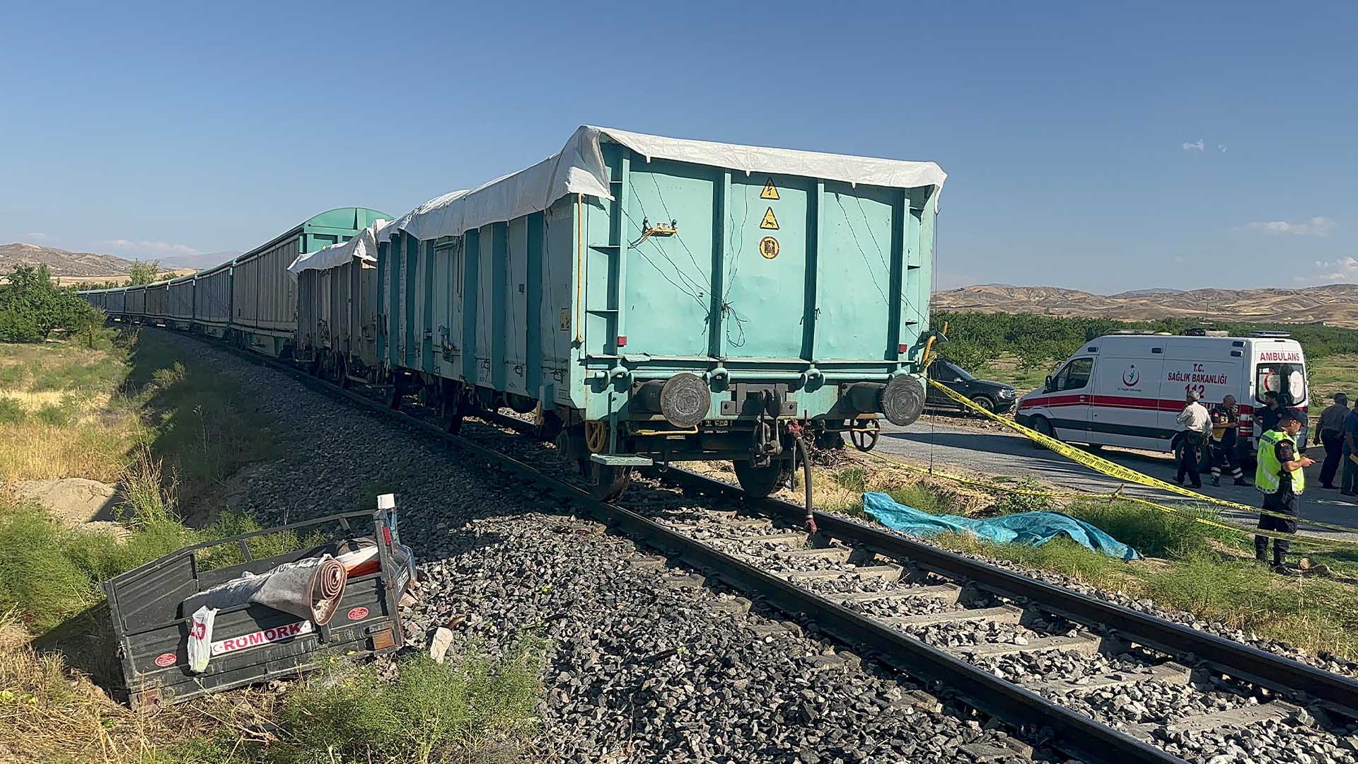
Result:
M941 189L948 177L933 162L683 140L584 125L558 154L470 192L452 192L426 201L383 228L378 239L386 241L395 231L406 231L421 241L460 237L463 231L489 223L504 223L542 212L551 203L573 193L611 200L608 171L600 148L604 139L621 143L648 160L691 162L737 170L747 175L771 173L899 189Z

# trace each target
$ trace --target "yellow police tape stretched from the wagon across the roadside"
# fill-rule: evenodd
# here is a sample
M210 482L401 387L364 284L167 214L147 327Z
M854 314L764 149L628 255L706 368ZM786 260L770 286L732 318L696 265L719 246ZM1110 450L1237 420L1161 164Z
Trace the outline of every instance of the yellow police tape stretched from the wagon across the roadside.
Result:
M1297 521L1301 525L1309 525L1309 526L1315 526L1315 527L1324 527L1324 529L1329 529L1329 530L1340 530L1340 532L1344 532L1344 533L1358 533L1358 529L1354 529L1354 527L1348 527L1348 526L1343 526L1343 525L1324 523L1324 522L1312 521L1312 519L1302 519L1302 518L1298 518L1296 515L1287 515L1287 514L1283 514L1283 513L1274 513L1271 510L1264 510L1264 508L1260 508L1260 507L1251 507L1248 504L1240 504L1237 502L1228 502L1225 499L1217 499L1214 496L1207 496L1207 495L1203 495L1203 493L1198 493L1196 491L1190 491L1188 488L1184 488L1181 485L1175 485L1172 483L1165 483L1164 480L1158 480L1158 479L1150 477L1149 474L1143 474L1143 473L1139 473L1139 472L1137 472L1134 469L1128 469L1128 468L1122 466L1119 464L1111 462L1111 461L1108 461L1108 459L1105 459L1103 457L1097 457L1095 454L1090 454L1088 451L1084 451L1081 449L1070 446L1069 443L1062 443L1061 440L1057 440L1055 438L1048 438L1047 435L1043 435L1042 432L1038 432L1036 430L1032 430L1029 427L1024 427L1023 424L1019 424L1017 421L1013 421L1010 419L1005 419L1005 417L1002 417L1002 416L999 416L999 415L997 415L997 413L994 413L991 411L980 408L971 398L967 398L966 396L963 396L963 394L952 390L951 387L948 387L945 385L938 383L934 379L930 379L929 383L934 389L937 389L938 392L947 394L949 398L952 398L953 401L956 401L957 404L960 404L961 406L964 406L967 411L972 411L975 413L979 413L979 415L990 419L991 421L997 421L997 423L1008 427L1009 430L1013 430L1014 432L1019 432L1020 435L1024 435L1025 438L1028 438L1028 439L1031 439L1031 440L1033 440L1036 443L1040 443L1040 445L1046 446L1047 449L1051 449L1052 451L1055 451L1055 453L1066 457L1067 459L1071 459L1074 462L1082 464L1082 465L1088 466L1089 469L1101 472L1101 473L1104 473L1104 474L1107 474L1109 477L1116 477L1118 480L1123 480L1126 483L1135 483L1138 485L1146 485L1149 488L1158 488L1161 491L1169 491L1171 493L1177 493L1180 496L1187 496L1190 499L1194 499L1194 500L1198 500L1198 502L1203 502L1203 503L1207 503L1207 504L1215 504L1215 506L1221 506L1221 507L1229 507L1229 508L1233 508L1233 510L1243 510L1243 511L1247 511L1247 513L1258 513L1258 514L1272 515L1272 517L1278 517L1278 518L1283 518L1283 519L1291 519L1291 521ZM873 454L873 455L876 455L876 454ZM918 468L910 468L909 465L903 465L903 464L900 464L900 462L898 462L895 459L885 459L885 457L879 457L879 458L883 458L884 461L888 461L891 464L903 466L906 469L918 469ZM921 472L925 472L925 470L921 470ZM978 484L978 485L985 485L985 484L982 484L979 481L970 481L970 480L959 477L959 476L949 476L949 474L937 473L937 472L934 472L933 474L940 474L941 477L945 477L945 479L949 479L949 480L957 480L960 483L974 483L974 484ZM1014 492L1014 493L1039 495L1039 492L1036 492L1036 491L1021 491L1021 489L1016 489L1016 488L1010 488L1010 487L993 485L991 489L1009 491L1009 492ZM1114 493L1092 493L1092 492L1090 493L1050 493L1050 492L1042 492L1042 495L1050 495L1050 496L1054 496L1054 498L1118 498L1118 499L1124 499L1124 500L1128 500L1128 502L1135 502L1138 504L1146 504L1146 506L1153 507L1156 510L1160 510L1162 513L1183 514L1184 517L1188 517L1188 518L1194 519L1195 522L1200 522L1200 523L1205 523L1205 525L1211 525L1211 526L1215 526L1215 527L1224 527L1224 529L1228 529L1228 530L1243 533L1245 536L1267 536L1270 538L1286 538L1289 541L1298 541L1298 542L1305 542L1305 544L1312 544L1312 545L1315 545L1315 544L1323 544L1323 545L1358 546L1358 542L1355 542L1355 541L1346 541L1346 540L1342 540L1342 538L1316 538L1316 537L1310 537L1310 536L1298 536L1296 533L1270 533L1270 532L1264 532L1264 530L1244 529L1244 527L1240 527L1240 526L1236 526L1236 525L1219 523L1219 522L1210 521L1207 518L1202 518L1202 517L1198 517L1198 515L1194 515L1194 514L1183 513L1181 510L1177 510L1175 507L1169 507L1169 506L1165 506L1165 504L1157 504L1154 502L1149 502L1146 499L1138 499L1135 496L1122 495L1122 489L1119 489L1118 492L1114 492Z

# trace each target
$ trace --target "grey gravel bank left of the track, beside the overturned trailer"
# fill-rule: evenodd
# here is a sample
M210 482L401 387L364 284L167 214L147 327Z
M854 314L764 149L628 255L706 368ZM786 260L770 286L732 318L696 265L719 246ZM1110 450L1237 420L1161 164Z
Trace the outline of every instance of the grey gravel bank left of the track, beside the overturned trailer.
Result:
M454 631L454 657L547 640L545 761L970 761L970 744L1008 742L968 710L778 613L747 612L733 593L441 442L162 334L239 377L276 420L288 455L238 474L235 508L299 521L392 492L422 579L403 613L411 644L439 627Z

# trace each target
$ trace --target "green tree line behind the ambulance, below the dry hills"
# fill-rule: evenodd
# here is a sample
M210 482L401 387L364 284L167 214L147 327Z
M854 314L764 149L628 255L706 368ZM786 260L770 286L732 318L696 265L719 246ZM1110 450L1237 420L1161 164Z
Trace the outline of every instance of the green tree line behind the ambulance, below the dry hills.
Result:
M1114 321L1071 315L1035 315L1031 313L972 313L936 310L930 326L942 329L948 322L948 341L938 353L964 368L980 368L1008 353L1019 359L1020 368L1046 368L1069 358L1084 343L1119 329L1169 332L1188 329L1222 329L1230 334L1249 332L1289 332L1301 343L1306 358L1317 360L1335 353L1358 352L1358 330L1309 324L1238 324L1205 322L1195 318L1158 318L1156 321Z

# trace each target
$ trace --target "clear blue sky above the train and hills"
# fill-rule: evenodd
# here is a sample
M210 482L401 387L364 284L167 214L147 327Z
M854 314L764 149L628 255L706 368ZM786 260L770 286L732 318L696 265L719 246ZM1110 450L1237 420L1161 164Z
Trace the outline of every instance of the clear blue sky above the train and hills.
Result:
M280 5L10 5L0 243L243 250L600 124L938 162L941 288L1358 280L1354 3Z

